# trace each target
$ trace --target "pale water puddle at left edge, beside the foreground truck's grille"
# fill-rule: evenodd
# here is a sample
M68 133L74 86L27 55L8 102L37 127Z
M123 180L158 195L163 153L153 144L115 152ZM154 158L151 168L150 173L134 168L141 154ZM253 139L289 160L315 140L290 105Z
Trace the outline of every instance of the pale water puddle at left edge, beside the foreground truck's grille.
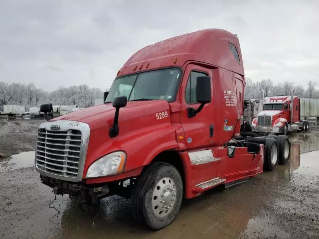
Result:
M35 151L13 154L8 161L0 162L0 171L34 166Z

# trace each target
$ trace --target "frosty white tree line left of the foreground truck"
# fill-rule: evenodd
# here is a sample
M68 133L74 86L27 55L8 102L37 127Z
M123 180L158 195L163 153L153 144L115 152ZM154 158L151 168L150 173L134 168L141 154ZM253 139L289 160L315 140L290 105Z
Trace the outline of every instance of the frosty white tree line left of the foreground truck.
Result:
M55 91L47 92L36 88L33 83L25 85L0 82L0 110L3 110L3 105L20 105L28 111L29 107L40 107L46 103L86 108L94 106L94 100L98 97L103 97L103 91L89 88L87 85L59 87Z

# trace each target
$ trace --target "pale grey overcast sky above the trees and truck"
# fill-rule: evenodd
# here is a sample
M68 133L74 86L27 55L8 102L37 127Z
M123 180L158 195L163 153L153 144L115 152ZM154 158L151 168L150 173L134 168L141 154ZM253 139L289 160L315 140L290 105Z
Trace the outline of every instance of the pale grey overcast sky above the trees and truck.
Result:
M319 84L319 0L0 0L0 81L104 90L140 48L204 28L238 35L254 81Z

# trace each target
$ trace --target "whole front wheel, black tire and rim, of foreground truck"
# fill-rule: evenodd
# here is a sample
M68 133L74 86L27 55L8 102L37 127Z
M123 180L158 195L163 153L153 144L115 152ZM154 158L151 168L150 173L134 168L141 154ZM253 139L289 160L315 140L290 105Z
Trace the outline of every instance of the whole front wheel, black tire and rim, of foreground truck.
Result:
M183 182L178 170L168 163L153 163L143 172L133 191L133 216L141 226L158 231L174 220L182 197Z

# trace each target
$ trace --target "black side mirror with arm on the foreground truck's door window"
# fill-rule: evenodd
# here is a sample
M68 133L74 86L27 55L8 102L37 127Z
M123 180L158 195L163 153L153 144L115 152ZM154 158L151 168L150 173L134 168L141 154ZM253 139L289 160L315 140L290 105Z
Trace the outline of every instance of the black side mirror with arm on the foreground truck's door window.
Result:
M199 113L205 104L211 101L210 76L198 76L196 79L196 101L200 103L197 110L188 108L188 118L192 118Z

